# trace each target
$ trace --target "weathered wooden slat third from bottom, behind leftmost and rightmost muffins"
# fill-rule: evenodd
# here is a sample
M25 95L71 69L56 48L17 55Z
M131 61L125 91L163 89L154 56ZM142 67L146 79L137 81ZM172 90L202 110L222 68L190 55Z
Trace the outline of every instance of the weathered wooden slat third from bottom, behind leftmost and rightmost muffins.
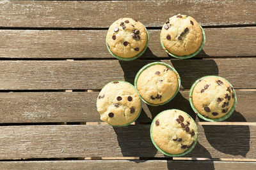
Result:
M237 91L236 111L227 122L256 122L256 91ZM101 122L96 108L99 92L15 92L0 93L0 123ZM137 122L151 122L170 108L184 110L195 119L188 91L180 91L168 104L153 107L143 103ZM198 121L198 119L196 119Z

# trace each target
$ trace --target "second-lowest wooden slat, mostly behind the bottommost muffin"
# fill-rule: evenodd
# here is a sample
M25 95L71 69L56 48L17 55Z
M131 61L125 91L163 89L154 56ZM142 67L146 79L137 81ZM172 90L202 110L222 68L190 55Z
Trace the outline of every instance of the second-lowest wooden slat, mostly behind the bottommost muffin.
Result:
M0 159L164 157L150 125L34 125L0 127ZM256 158L255 125L199 125L198 144L186 157Z

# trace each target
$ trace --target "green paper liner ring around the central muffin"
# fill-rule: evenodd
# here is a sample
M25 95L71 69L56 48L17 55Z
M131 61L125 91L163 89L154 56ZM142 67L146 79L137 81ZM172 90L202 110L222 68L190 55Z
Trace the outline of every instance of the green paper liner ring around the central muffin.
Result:
M144 103L146 103L146 104L148 104L148 105L150 105L150 106L159 106L159 105L163 105L163 104L166 104L166 103L172 101L172 99L177 95L177 93L178 93L179 90L180 90L180 76L179 76L179 73L178 73L172 66L170 66L169 64L166 64L166 63L164 63L164 62L152 62L152 63L149 63L149 64L143 66L143 67L140 69L140 71L138 71L138 73L137 73L136 76L135 76L135 79L134 79L134 86L135 86L135 89L136 89L137 91L138 91L138 89L137 89L137 81L138 81L138 78L139 78L140 74L141 74L145 69L147 69L147 67L154 66L154 65L163 65L163 66L166 66L166 67L170 68L170 69L177 75L177 78L178 78L178 88L177 88L175 94L173 94L173 96L170 97L170 99L168 99L167 101L165 101L165 102L163 102L163 103L159 103L159 104L148 103L147 101L145 101L145 99L143 99L143 97L140 96L140 97L141 97L141 100L142 100ZM139 95L140 95L140 93L139 93Z

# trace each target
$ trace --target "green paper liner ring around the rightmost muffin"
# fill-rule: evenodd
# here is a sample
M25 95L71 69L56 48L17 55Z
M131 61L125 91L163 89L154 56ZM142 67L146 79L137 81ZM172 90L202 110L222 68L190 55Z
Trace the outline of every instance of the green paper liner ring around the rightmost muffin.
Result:
M202 119L204 119L208 122L221 122L223 120L226 120L228 117L230 117L232 115L232 113L234 112L234 110L236 109L236 103L237 103L236 92L235 92L235 89L233 88L233 92L234 92L234 95L235 95L234 104L233 104L231 110L228 111L228 113L226 115L224 115L223 117L220 117L220 118L205 118L203 115L201 115L199 113L199 111L196 110L196 108L193 104L193 101L192 101L192 94L193 94L193 90L194 90L196 84L200 80L202 80L203 78L207 78L207 77L210 77L210 76L204 76L204 77L198 78L198 80L196 80L195 83L193 83L193 85L191 86L191 89L189 91L189 103L190 103L191 108L193 109L193 111L195 111L196 115L198 115L198 117L200 117L200 118L202 118ZM223 77L220 77L220 76L214 76L214 77L223 78ZM225 78L223 78L223 79L226 80ZM226 80L226 81L229 83L230 87L233 87L228 80Z

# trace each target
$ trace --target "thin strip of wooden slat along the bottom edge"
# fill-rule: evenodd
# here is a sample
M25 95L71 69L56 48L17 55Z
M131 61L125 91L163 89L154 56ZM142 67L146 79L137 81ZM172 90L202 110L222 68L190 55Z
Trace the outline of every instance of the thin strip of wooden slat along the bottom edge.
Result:
M184 160L60 160L0 162L1 169L256 169L256 162Z

